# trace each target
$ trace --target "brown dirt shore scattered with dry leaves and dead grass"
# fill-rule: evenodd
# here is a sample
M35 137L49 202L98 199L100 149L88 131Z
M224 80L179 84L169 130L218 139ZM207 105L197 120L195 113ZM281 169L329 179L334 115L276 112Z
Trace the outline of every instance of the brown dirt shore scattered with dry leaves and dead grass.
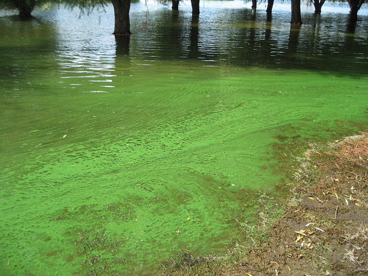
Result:
M231 261L184 253L161 275L368 275L368 133L296 163L293 197L257 244Z

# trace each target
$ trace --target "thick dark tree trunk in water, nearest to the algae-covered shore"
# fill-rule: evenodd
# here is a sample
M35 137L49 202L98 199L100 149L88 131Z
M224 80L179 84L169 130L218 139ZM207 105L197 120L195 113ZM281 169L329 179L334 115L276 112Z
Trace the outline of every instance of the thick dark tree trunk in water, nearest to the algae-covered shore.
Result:
M130 0L111 0L115 14L115 35L131 35L130 32Z

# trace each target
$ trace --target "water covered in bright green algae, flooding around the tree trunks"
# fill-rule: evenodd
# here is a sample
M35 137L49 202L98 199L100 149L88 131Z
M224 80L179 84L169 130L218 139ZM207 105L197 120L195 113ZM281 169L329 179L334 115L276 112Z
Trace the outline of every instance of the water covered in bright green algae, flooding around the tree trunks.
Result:
M1 275L224 253L287 196L291 152L367 127L367 11L347 34L344 6L294 30L250 5L132 3L130 41L111 6L1 13Z

